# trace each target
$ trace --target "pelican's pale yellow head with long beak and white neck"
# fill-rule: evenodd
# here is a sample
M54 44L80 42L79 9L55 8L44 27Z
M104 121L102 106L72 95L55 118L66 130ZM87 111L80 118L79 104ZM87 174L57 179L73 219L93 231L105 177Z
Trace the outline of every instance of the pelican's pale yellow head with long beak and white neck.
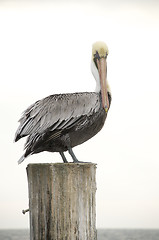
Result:
M92 46L92 73L96 79L96 92L101 91L103 108L109 109L108 83L107 83L107 56L108 47L104 42L95 42Z

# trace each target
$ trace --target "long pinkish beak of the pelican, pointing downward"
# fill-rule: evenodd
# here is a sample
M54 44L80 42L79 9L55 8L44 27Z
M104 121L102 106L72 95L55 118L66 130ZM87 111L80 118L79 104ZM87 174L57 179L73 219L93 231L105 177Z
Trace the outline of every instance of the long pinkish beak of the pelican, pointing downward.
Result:
M107 60L106 57L100 57L97 59L97 66L101 84L101 95L103 108L107 112L109 109L109 99L107 93Z

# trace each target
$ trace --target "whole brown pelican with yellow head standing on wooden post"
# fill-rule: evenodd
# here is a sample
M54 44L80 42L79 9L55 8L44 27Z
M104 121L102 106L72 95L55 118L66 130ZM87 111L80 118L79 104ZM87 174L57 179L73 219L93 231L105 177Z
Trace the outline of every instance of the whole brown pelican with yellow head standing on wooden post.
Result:
M79 162L72 148L101 130L110 107L107 55L105 43L93 44L91 69L96 80L95 92L50 95L24 111L15 134L15 142L28 136L19 164L29 155L42 151L59 152L65 163L64 152L68 151L73 162Z

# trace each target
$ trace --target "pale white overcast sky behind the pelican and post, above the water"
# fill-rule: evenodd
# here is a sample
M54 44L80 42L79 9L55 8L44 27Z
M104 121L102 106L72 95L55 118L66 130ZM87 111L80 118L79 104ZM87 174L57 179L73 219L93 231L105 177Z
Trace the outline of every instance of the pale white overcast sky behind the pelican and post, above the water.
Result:
M54 93L93 91L91 47L109 47L112 105L102 131L74 148L97 163L97 227L159 228L159 2L0 1L0 228L28 228L28 163L13 143L23 110Z

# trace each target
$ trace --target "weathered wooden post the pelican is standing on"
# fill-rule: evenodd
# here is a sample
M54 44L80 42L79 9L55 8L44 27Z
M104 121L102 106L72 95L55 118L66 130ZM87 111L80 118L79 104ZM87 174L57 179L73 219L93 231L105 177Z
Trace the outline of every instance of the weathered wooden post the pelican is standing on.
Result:
M96 164L27 166L30 240L96 240Z

